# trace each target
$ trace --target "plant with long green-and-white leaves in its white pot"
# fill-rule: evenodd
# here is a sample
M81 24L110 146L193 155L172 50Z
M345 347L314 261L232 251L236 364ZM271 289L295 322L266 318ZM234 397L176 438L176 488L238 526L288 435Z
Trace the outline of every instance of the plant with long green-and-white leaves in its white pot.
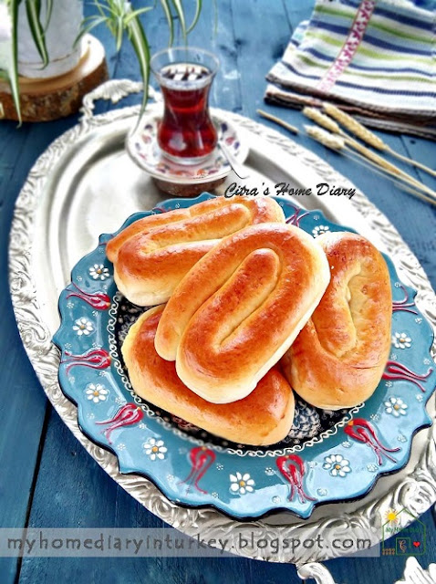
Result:
M59 78L77 68L84 36L100 25L108 26L117 50L124 39L133 47L144 84L143 110L148 99L151 57L142 22L149 17L146 13L163 10L172 45L174 20L179 21L186 40L198 21L202 0L195 0L195 14L189 25L182 0L160 0L159 5L157 2L141 4L134 7L125 0L92 0L93 14L83 18L82 0L0 0L0 79L8 84L16 118L22 119L20 89L23 89L23 82L47 79L48 83L48 79Z

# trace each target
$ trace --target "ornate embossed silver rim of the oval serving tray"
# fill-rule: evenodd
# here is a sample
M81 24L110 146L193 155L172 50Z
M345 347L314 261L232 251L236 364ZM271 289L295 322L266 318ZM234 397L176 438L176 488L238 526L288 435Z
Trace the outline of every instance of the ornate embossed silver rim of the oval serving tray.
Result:
M109 91L110 92L110 91ZM109 96L110 97L110 96ZM171 503L147 479L138 475L119 474L116 458L108 451L99 448L88 441L80 432L77 423L77 409L67 400L60 391L57 383L59 363L58 351L51 343L51 333L42 318L41 307L38 305L36 284L34 277L35 258L32 255L32 243L36 232L36 209L45 184L50 179L50 170L61 156L74 148L79 138L90 131L99 131L109 124L119 120L132 119L138 115L139 107L109 111L95 117L85 117L80 124L67 130L54 141L36 161L29 172L26 183L16 200L16 209L10 233L9 245L9 281L16 321L23 339L29 359L32 362L39 381L47 393L60 417L67 424L71 432L88 450L88 453L117 481L117 483L134 496L152 513L159 516L172 527L180 529L187 535L195 536L199 532L202 537L229 537L234 543L239 534L254 532L256 537L265 537L268 540L275 537L292 537L293 533L303 534L305 537L314 537L318 534L332 540L343 534L350 527L358 528L370 538L373 544L379 543L378 518L389 506L407 506L411 513L420 515L436 501L436 432L435 426L425 432L420 444L420 453L416 448L412 450L414 468L405 468L396 476L400 481L389 488L376 501L359 501L352 510L342 504L326 506L334 509L334 516L313 516L306 521L289 522L284 526L275 525L266 520L240 522L223 516L213 508L192 509L177 506ZM315 154L302 148L294 141L285 138L275 130L248 120L238 114L225 112L235 124L240 124L244 130L258 135L260 138L279 147L285 154L295 157L296 161L316 169L318 175L327 182L340 182L352 187L342 175L323 162ZM411 253L400 235L390 224L389 220L379 212L377 207L370 203L367 197L359 191L351 200L352 206L364 218L369 226L379 231L385 249L400 271L400 277L418 291L417 306L424 316L431 322L433 330L436 328L436 297L431 289L430 282L420 266L417 258ZM433 343L432 356L436 354L436 342ZM434 397L430 401L431 417L434 418ZM278 554L271 553L267 548L235 547L234 553L248 558L265 559L277 562L293 562L297 565L307 561L319 561L340 555L338 550L331 547L324 549L296 549L293 554L284 550Z

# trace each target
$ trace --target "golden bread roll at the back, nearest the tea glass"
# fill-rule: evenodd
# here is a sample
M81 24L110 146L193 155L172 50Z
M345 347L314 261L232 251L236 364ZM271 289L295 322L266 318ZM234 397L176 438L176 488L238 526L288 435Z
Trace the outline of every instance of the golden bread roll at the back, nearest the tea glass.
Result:
M144 217L108 242L119 291L138 306L166 302L182 277L226 235L251 224L285 223L274 199L216 197Z

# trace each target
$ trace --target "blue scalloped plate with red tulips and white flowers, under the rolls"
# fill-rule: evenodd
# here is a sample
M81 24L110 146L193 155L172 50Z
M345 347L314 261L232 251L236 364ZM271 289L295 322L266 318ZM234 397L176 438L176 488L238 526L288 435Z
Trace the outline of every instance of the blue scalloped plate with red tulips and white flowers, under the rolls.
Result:
M171 200L132 215L165 213L209 198ZM344 231L320 212L279 201L287 222L317 237ZM387 259L392 284L392 348L383 379L369 401L339 412L297 401L296 419L281 443L228 443L142 401L132 390L120 345L143 308L121 297L105 254L112 235L72 271L59 299L59 382L78 405L82 431L118 456L121 473L144 474L172 501L214 506L235 518L287 509L310 516L314 506L366 495L381 474L410 456L413 434L431 424L425 404L436 385L432 331Z

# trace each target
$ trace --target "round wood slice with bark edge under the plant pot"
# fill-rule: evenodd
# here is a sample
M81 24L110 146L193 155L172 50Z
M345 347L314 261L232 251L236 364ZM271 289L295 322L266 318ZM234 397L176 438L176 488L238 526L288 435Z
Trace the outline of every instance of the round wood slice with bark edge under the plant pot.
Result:
M23 121L49 121L76 113L82 98L108 78L105 51L95 36L83 39L78 66L65 75L47 79L19 78ZM0 118L18 120L9 85L0 82Z

